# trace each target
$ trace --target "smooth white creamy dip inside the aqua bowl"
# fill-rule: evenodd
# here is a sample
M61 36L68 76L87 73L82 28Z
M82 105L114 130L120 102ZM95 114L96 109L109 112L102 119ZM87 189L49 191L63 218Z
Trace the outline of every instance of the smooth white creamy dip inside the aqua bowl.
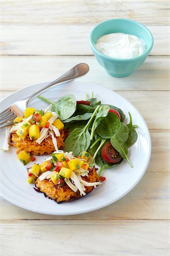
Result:
M130 59L146 51L146 44L141 38L124 33L101 36L95 46L101 53L117 59Z

